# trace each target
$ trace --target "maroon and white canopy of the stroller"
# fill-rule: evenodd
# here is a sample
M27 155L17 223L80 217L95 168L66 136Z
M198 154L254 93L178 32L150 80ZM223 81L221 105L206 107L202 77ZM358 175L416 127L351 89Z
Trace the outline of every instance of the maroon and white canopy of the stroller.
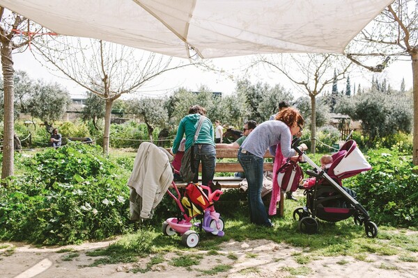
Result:
M357 147L355 140L348 140L336 154L332 155L332 163L328 173L339 179L353 177L360 172L371 170L371 165Z

